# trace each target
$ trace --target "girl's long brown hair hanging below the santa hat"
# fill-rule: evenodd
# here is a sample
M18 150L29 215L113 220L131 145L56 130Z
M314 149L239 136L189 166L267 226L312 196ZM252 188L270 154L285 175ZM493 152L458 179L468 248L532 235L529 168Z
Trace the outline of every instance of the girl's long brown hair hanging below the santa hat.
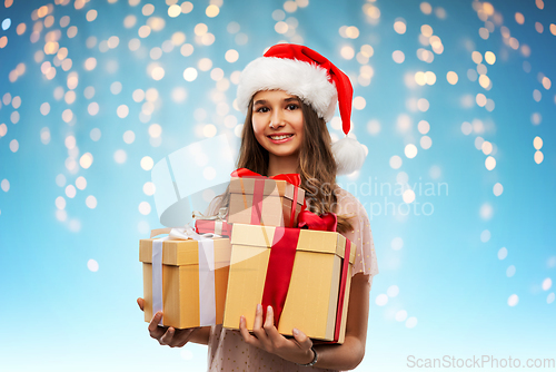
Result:
M301 188L305 189L307 206L309 211L320 215L327 212L336 212L338 198L336 196L336 160L330 147L330 134L322 118L317 112L301 102L304 114L304 139L299 150L299 174L301 176ZM247 109L247 116L241 133L241 146L238 168L247 168L260 175L268 176L268 150L265 149L252 129L252 99ZM227 207L229 193L221 195L220 206ZM338 215L338 232L345 233L353 228L348 218L350 216Z

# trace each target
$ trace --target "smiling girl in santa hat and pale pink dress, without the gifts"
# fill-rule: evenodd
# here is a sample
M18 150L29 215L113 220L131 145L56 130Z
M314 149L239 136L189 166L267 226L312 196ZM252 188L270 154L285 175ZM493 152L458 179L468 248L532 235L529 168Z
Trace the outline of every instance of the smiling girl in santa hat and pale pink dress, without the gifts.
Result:
M296 45L274 46L249 63L241 74L237 97L246 112L238 168L265 176L300 174L308 209L318 215L336 213L338 232L356 245L345 342L314 345L297 329L294 337L287 339L274 324L272 309L264 311L260 304L254 309L252 334L244 316L238 319L239 331L221 325L176 330L158 325L159 312L148 326L151 337L170 347L187 342L208 345L209 371L338 371L355 369L361 362L369 291L378 268L367 213L336 185L336 175L360 167L365 150L348 137L331 146L326 127L338 102L344 131L349 131L351 99L351 84L341 70L314 50ZM227 203L228 198L221 197L212 203L212 209ZM142 310L143 300L138 298L138 304Z

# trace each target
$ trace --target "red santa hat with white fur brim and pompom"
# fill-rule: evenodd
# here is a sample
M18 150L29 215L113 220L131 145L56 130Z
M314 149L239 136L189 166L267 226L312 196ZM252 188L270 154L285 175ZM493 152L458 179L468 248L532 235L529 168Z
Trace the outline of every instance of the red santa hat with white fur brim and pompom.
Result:
M363 145L347 137L351 126L354 88L346 74L312 49L280 43L244 69L239 78L238 106L247 115L255 94L275 89L299 97L326 123L332 118L338 102L346 134L345 138L332 144L338 174L349 174L363 166L366 157Z

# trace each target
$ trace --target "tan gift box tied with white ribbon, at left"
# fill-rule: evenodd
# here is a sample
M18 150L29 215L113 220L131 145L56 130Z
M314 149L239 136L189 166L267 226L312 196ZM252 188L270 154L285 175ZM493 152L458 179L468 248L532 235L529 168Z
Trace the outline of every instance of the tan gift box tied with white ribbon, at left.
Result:
M162 311L160 325L188 329L221 324L230 241L198 235L190 227L172 228L169 234L139 243L145 321L150 322L157 311Z

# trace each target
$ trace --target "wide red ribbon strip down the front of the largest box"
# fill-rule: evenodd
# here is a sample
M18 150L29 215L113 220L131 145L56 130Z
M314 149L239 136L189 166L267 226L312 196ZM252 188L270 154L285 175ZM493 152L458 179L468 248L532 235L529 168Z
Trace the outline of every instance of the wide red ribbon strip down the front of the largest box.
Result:
M300 232L299 228L276 227L272 238L261 304L265 314L268 306L272 306L277 327L291 281Z

